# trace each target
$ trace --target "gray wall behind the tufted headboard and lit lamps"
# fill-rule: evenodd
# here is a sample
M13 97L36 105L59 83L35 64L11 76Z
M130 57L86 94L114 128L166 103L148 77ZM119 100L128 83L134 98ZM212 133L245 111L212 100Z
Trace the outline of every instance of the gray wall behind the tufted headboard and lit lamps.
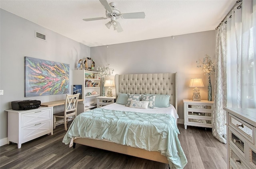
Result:
M215 39L212 30L178 35L174 39L164 37L91 47L91 57L99 60L96 66L109 63L110 68L114 68L111 79L115 74L178 72L178 122L183 123L182 100L192 99L193 88L188 87L191 78L202 78L205 87L200 88L200 95L202 100L207 100L208 76L196 67L196 61L202 60L206 54L215 61ZM214 86L214 75L211 81Z

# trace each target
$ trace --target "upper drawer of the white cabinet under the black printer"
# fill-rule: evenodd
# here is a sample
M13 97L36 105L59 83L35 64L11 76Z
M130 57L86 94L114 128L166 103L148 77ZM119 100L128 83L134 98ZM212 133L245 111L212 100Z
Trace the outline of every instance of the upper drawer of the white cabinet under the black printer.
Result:
M40 122L50 120L51 109L34 110L32 112L23 113L21 115L21 127L30 126L32 124L38 124Z

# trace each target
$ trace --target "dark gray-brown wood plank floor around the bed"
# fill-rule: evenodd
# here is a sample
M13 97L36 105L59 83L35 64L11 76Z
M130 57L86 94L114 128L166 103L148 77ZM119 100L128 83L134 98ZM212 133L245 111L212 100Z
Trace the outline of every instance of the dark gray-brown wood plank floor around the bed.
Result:
M180 143L188 159L184 169L226 169L226 144L212 136L210 129L178 124ZM168 169L168 165L120 153L76 144L62 143L64 125L17 148L16 143L0 147L1 169Z

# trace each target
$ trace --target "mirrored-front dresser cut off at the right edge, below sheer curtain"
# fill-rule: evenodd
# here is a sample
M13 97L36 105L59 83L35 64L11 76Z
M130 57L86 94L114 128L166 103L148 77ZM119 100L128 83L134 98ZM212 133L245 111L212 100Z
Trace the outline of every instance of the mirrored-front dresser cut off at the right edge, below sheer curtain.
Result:
M228 169L256 169L256 109L224 108Z

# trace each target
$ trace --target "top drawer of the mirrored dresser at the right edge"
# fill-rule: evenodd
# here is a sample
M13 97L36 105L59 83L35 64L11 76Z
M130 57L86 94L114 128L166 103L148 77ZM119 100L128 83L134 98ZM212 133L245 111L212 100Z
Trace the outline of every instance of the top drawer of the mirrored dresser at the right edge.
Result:
M229 125L254 144L254 127L232 114L228 114Z

